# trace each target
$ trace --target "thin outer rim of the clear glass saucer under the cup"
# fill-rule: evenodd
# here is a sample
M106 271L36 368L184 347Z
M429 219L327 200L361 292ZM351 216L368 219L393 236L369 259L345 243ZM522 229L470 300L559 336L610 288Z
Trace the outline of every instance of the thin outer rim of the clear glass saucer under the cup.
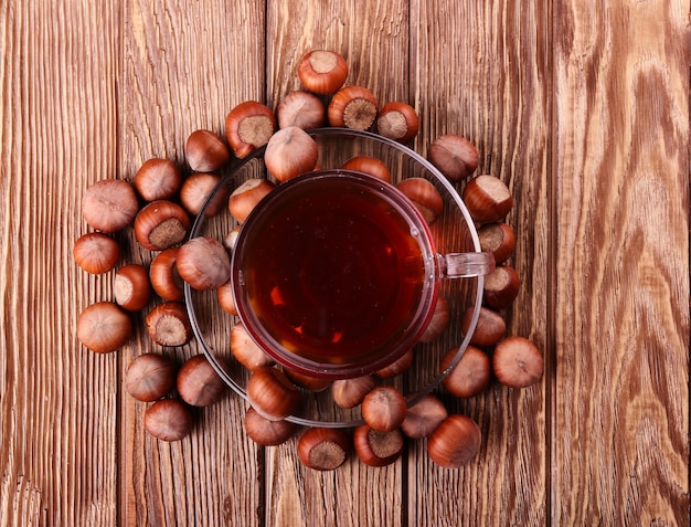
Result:
M306 131L310 136L312 136L312 137L319 137L319 136L351 136L351 137L358 137L358 138L362 138L362 139L373 140L373 141L376 141L376 143L384 144L384 145L386 145L386 146L389 146L391 148L394 148L394 149L401 151L402 154L404 154L405 156L408 156L410 158L412 158L416 164L422 165L423 168L425 168L429 173L432 173L434 176L436 182L439 183L442 187L444 187L445 190L448 192L448 194L454 199L454 201L456 202L456 205L458 207L458 209L460 210L460 212L461 212L461 214L464 217L464 220L466 221L466 223L469 226L468 232L470 234L470 239L472 241L472 245L474 245L475 252L481 252L480 240L478 238L477 229L475 228L475 222L472 221L472 218L470 217L470 212L468 212L468 209L466 208L466 204L464 203L460 194L454 188L451 182L434 165L432 165L424 157L418 155L415 150L406 147L405 145L403 145L401 143L397 143L395 140L392 140L392 139L389 139L386 137L380 136L380 135L374 134L372 131L361 131L361 130L355 130L355 129L351 129L351 128L339 128L339 127L315 128L315 129L310 129L310 130L306 130ZM205 213L206 209L210 207L210 204L212 203L213 197L216 194L216 192L222 187L224 187L225 185L231 182L245 165L247 165L248 162L253 161L254 159L263 157L265 150L266 150L266 146L257 148L252 154L249 154L247 157L238 160L235 165L233 165L230 168L228 173L226 173L225 176L223 176L221 178L221 181L216 185L214 190L211 192L211 194L209 196L209 198L204 202L204 204L202 205L201 210L196 214L196 218L194 218L194 221L192 222L192 226L190 229L190 233L188 235L188 240L196 238L196 236L200 235L200 233L199 233L200 229L203 226L204 221L206 220L206 218L204 217L204 213ZM472 317L470 318L470 324L468 326L468 331L464 335L464 338L463 338L461 342L456 348L456 355L454 356L454 358L449 362L449 365L443 371L437 373L426 387L424 387L423 389L418 390L415 393L404 394L405 396L405 400L406 400L406 404L407 404L408 408L414 405L416 402L418 402L425 396L429 394L432 391L434 391L436 388L438 388L439 384L442 383L442 381L444 380L444 378L447 377L451 372L451 370L456 367L458 361L463 358L466 349L468 348L468 346L470 344L470 338L472 337L472 334L475 333L475 329L476 329L476 326L477 326L477 323L478 323L478 318L480 316L480 307L482 305L482 289L483 289L483 285L485 285L483 276L477 276L476 280L477 280L477 287L476 287L476 292L475 292L475 306L474 306L474 310L472 310ZM192 333L194 335L194 338L195 338L198 345L201 346L204 356L206 357L206 359L209 360L209 362L211 363L213 369L216 371L219 377L221 377L221 379L223 379L223 381L236 394L242 397L244 400L247 400L247 392L246 392L246 390L242 386L240 386L235 381L235 379L233 379L228 375L228 372L219 363L219 361L216 360L212 349L206 344L206 340L204 339L204 336L202 334L202 329L201 329L201 327L199 325L196 313L195 313L194 307L193 307L192 294L193 294L192 287L190 287L190 285L185 282L183 284L184 305L185 305L185 309L188 312L188 316L190 318L190 325L192 326ZM299 425L304 425L304 426L322 426L322 428L353 428L353 426L358 426L358 425L364 424L364 421L362 419L353 420L353 421L316 421L316 420L307 419L307 418L304 418L304 417L300 417L300 415L289 415L285 420L289 421L289 422L293 422L293 423L296 423L296 424L299 424Z

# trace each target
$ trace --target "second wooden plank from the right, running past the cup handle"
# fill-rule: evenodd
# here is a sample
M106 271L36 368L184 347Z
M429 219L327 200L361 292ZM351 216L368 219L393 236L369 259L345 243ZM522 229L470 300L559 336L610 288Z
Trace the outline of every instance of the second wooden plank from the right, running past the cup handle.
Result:
M531 338L549 363L551 12L546 2L413 2L412 42L418 151L444 134L471 140L476 173L503 180L514 198L507 218L517 233L509 262L522 280L508 334ZM470 400L442 393L447 408L474 418L482 446L463 470L428 460L414 444L408 465L408 517L415 525L544 525L546 380L525 390L496 381Z

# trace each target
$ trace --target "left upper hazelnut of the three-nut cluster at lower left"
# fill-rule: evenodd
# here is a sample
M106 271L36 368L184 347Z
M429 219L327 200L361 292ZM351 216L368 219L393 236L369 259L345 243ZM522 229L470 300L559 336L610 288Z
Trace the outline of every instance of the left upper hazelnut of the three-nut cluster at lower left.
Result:
M176 386L176 367L159 354L143 354L132 360L125 373L125 390L142 402L166 397Z

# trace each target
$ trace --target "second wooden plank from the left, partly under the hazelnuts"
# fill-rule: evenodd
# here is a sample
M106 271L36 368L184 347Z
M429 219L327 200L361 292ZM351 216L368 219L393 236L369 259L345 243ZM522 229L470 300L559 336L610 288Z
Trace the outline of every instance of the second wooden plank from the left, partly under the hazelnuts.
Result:
M131 179L151 157L182 162L193 130L223 136L232 107L264 98L265 6L129 0L123 9L118 169ZM130 242L131 259L150 262L151 254ZM160 348L142 331L123 354L121 371L146 351ZM192 342L163 352L181 363L201 348ZM263 465L242 428L242 399L228 393L199 409L192 434L172 444L143 432L146 405L124 392L120 399L125 525L263 525Z

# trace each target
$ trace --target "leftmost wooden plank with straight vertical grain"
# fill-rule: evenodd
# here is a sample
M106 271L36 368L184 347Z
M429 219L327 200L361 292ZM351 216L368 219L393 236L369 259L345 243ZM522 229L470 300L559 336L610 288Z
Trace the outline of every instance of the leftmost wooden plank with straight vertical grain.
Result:
M111 2L0 7L0 523L116 520L117 356L73 331L109 281L83 273L87 182L116 171ZM43 21L50 21L43 22Z

